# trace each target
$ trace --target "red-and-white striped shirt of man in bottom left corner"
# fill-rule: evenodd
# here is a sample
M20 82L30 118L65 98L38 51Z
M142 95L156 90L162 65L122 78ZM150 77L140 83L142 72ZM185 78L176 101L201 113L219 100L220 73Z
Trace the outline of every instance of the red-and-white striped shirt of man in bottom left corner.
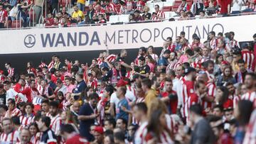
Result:
M18 143L20 140L18 131L12 131L11 133L1 133L1 143Z

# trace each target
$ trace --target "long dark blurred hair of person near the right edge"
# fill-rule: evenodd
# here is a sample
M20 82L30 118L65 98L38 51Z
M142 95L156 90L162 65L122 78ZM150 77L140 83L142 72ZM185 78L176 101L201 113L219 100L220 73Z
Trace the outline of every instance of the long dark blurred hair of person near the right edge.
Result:
M250 121L250 115L253 111L252 101L240 100L238 101L238 123L240 126L245 126Z

